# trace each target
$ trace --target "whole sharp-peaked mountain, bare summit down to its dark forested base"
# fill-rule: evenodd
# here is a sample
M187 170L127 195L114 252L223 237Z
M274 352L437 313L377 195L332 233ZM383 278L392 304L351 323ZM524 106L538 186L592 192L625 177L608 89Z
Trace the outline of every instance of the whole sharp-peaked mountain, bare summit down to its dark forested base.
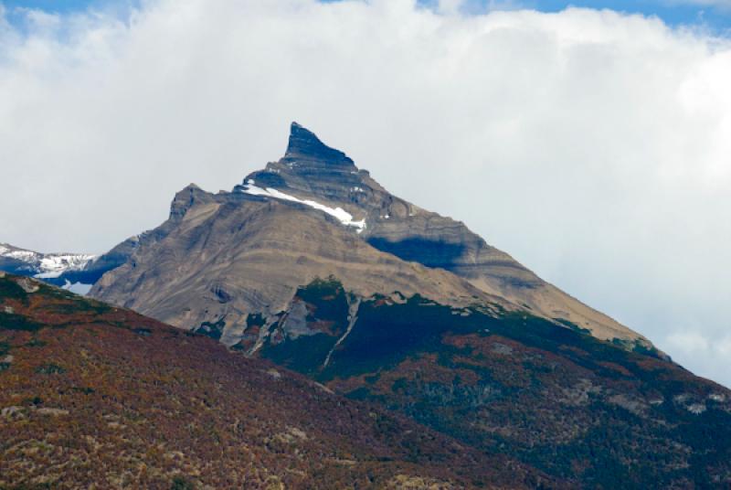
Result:
M160 227L116 253L92 296L559 485L731 483L728 389L462 223L389 194L297 123L278 162L231 192L187 186Z

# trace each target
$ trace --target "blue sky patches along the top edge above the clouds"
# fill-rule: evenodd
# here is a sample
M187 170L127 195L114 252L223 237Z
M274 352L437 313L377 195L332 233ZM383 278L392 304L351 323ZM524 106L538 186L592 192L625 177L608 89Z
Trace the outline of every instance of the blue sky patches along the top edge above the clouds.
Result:
M337 1L337 0L323 0ZM439 0L418 0L423 5L436 5ZM50 12L68 13L89 6L109 7L139 4L139 0L0 0L12 14L13 7L38 8ZM609 8L620 12L658 16L676 27L703 25L717 34L731 30L731 0L465 0L466 11L480 12L487 8L532 8L542 12L557 12L568 6ZM11 15L12 17L12 15Z

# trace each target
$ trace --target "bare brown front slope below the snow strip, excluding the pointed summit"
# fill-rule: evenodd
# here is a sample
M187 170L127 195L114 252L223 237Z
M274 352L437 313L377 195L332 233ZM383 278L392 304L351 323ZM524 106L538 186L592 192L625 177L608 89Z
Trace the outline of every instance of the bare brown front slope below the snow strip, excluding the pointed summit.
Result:
M510 307L450 272L376 250L322 211L280 199L189 186L149 235L91 295L182 328L223 321L228 345L240 340L249 314L279 314L298 286L330 275L360 296L398 291Z

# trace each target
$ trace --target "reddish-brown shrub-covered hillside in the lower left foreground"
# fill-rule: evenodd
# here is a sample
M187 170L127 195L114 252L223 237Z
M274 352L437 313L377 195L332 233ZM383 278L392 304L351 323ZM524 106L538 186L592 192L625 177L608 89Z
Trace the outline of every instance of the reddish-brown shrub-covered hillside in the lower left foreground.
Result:
M267 361L0 272L0 488L563 486Z

